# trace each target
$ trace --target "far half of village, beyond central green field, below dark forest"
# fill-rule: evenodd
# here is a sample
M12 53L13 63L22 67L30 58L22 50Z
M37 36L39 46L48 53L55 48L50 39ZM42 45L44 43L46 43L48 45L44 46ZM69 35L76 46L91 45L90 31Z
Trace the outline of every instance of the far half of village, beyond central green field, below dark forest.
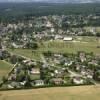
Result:
M30 17L26 21L2 22L0 23L0 37L3 37L2 41L5 46L14 48L28 48L29 44L37 44L42 40L69 41L73 39L73 36L99 37L99 27L94 25L98 24L99 18L96 15L77 15L77 17L74 15L49 15ZM93 26L90 23L92 20Z

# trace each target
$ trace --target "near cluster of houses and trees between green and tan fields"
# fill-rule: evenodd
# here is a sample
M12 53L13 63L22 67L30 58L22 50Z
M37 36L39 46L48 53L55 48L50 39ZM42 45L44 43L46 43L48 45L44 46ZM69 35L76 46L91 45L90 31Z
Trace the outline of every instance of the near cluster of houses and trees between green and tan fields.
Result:
M2 79L2 88L25 88L40 86L67 86L98 84L100 80L100 56L91 53L57 54L43 53L40 61L0 52L1 60L13 64Z

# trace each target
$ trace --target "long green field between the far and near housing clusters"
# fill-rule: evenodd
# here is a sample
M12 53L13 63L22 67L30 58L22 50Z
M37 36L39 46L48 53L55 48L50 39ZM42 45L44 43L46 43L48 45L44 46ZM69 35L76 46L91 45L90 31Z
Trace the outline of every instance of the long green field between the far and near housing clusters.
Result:
M45 41L39 45L37 50L32 49L8 49L8 51L22 55L36 60L41 59L41 54L45 51L52 51L55 53L77 53L77 51L100 53L100 38L96 37L73 37L74 40L67 42L63 40ZM32 53L32 51L34 51Z

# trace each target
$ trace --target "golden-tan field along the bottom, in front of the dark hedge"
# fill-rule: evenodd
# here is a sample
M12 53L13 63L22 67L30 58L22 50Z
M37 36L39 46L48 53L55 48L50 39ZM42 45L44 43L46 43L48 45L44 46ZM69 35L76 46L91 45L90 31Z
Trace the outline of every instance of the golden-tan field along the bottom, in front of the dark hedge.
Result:
M0 100L100 100L100 86L0 91Z

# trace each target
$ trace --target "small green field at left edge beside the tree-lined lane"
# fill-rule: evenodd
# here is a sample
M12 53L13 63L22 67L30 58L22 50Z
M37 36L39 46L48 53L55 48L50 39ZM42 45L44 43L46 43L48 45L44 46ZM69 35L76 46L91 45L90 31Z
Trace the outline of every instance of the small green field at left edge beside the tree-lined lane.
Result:
M6 76L8 74L11 68L12 68L11 64L0 60L0 80L2 76Z

